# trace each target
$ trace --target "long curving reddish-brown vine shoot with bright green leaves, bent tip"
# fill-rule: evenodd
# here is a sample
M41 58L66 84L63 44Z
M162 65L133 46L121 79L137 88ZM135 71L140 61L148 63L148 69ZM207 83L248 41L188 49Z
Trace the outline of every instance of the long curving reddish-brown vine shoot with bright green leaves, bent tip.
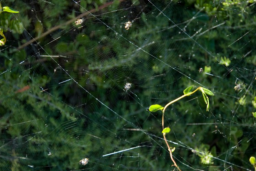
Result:
M156 112L156 111L158 111L158 110L161 110L161 111L162 111L162 129L163 129L162 133L163 133L164 141L165 141L165 143L166 143L166 145L167 145L167 147L168 147L168 151L170 152L171 160L172 160L173 163L174 163L174 165L172 165L172 166L175 166L179 171L181 171L181 169L179 169L178 165L176 164L176 162L175 162L175 160L173 159L173 156L172 156L172 153L174 152L175 148L172 148L172 147L169 146L169 144L168 144L168 142L167 142L167 139L166 139L166 137L165 137L165 135L166 135L167 133L169 133L169 132L171 131L171 129L170 129L169 127L164 128L164 112L165 112L166 108L167 108L168 106L170 106L171 104L173 104L174 102L177 102L178 100L181 100L182 98L184 98L184 97L186 97L186 96L190 96L191 94L194 94L194 93L197 92L198 90L200 90L200 91L202 92L203 99L204 99L204 101L205 101L205 103L206 103L206 111L209 111L209 108L210 108L210 107L209 107L209 98L208 98L207 95L213 96L214 94L213 94L210 90L208 90L208 89L206 89L206 88L203 88L203 87L198 87L196 90L191 91L191 90L193 89L193 87L194 87L194 86L189 86L189 87L187 87L187 88L183 91L184 95L182 95L181 97L178 97L178 98L176 98L175 100L169 102L169 103L166 104L164 107L161 106L161 105L159 105L159 104L154 104L154 105L151 105L151 106L149 107L149 111L151 111L151 112Z

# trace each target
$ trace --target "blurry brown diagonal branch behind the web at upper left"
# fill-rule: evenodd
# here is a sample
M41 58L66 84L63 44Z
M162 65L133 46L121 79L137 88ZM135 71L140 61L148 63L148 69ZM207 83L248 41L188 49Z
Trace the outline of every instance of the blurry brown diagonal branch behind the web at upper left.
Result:
M123 1L125 1L125 0L119 0L119 2L123 2ZM72 18L72 19L70 19L69 21L67 21L67 22L65 22L65 23L62 23L62 24L60 24L60 25L58 25L58 26L55 26L55 27L49 29L48 31L44 32L42 35L37 36L36 38L33 38L33 39L31 39L30 41L28 41L28 42L22 44L22 45L19 46L15 51L19 51L19 50L25 48L27 45L33 43L34 41L36 41L36 40L38 40L38 39L40 39L40 38L43 38L43 37L49 35L51 32L53 32L53 31L59 29L60 27L65 26L65 25L69 25L69 24L73 23L76 19L85 17L86 15L89 15L90 13L93 13L93 12L95 12L96 10L101 10L101 9L105 8L106 6L108 6L108 5L111 5L113 2L114 2L114 1L105 3L104 5L101 5L98 9L92 9L92 10L90 10L90 11L88 11L88 12L86 11L86 12L84 12L83 14L80 14L79 16L77 16L77 17L75 17L75 18Z

